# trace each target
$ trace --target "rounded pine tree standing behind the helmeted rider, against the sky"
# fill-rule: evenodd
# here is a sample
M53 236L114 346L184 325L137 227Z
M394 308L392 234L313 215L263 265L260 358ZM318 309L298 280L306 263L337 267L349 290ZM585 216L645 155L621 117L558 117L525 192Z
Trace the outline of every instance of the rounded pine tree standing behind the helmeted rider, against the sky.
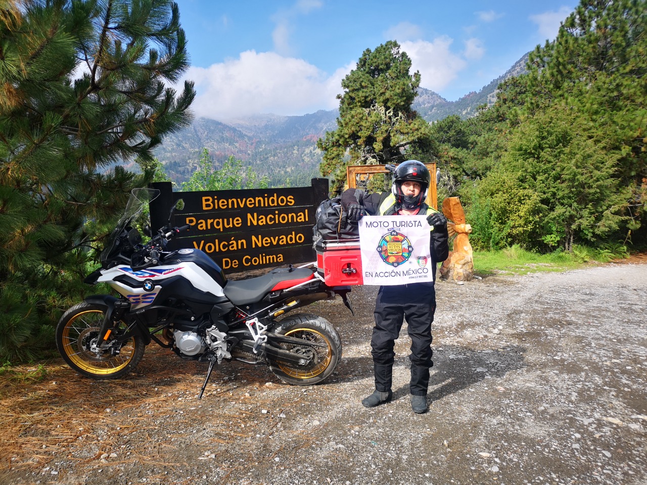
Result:
M430 127L411 110L421 78L410 68L406 52L388 41L366 49L342 81L337 129L317 142L324 152L321 172L332 175L334 188L344 184L346 162L388 164L433 155Z

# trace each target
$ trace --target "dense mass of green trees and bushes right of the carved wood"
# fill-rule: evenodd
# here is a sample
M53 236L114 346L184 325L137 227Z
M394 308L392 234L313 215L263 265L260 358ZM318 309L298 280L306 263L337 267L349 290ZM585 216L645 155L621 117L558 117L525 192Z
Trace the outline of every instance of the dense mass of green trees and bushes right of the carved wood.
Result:
M647 241L647 2L582 1L496 103L433 125L473 244L540 252Z

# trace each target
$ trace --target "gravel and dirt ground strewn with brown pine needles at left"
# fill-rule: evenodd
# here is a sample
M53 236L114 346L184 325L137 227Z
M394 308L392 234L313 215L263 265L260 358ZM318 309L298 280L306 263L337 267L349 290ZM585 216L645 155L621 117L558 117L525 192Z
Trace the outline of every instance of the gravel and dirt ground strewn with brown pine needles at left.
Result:
M646 260L437 283L425 415L404 329L393 402L360 404L371 286L353 290L355 316L309 307L344 345L320 385L232 362L197 400L206 365L152 346L118 381L62 360L3 376L0 484L647 484Z

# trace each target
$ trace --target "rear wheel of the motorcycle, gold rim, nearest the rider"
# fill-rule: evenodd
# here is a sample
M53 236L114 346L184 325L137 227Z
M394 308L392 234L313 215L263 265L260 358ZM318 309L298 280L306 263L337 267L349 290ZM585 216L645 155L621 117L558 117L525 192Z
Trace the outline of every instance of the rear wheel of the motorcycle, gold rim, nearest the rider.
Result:
M311 314L298 314L279 322L274 333L303 339L304 342L324 344L318 347L281 343L284 350L312 357L309 365L300 366L274 361L269 358L270 369L284 382L311 385L325 380L334 372L342 358L342 342L333 325L325 318Z

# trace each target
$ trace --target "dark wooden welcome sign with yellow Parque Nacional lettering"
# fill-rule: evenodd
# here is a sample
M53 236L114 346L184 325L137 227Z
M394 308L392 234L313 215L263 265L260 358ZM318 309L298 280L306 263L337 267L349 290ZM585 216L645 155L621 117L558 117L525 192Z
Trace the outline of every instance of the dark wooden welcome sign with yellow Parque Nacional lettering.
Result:
M169 250L202 250L231 272L316 261L314 211L328 197L327 178L287 189L173 192L171 182L151 187L160 190L150 204L153 228L164 226L171 206L184 200L171 224L191 229L171 239Z

